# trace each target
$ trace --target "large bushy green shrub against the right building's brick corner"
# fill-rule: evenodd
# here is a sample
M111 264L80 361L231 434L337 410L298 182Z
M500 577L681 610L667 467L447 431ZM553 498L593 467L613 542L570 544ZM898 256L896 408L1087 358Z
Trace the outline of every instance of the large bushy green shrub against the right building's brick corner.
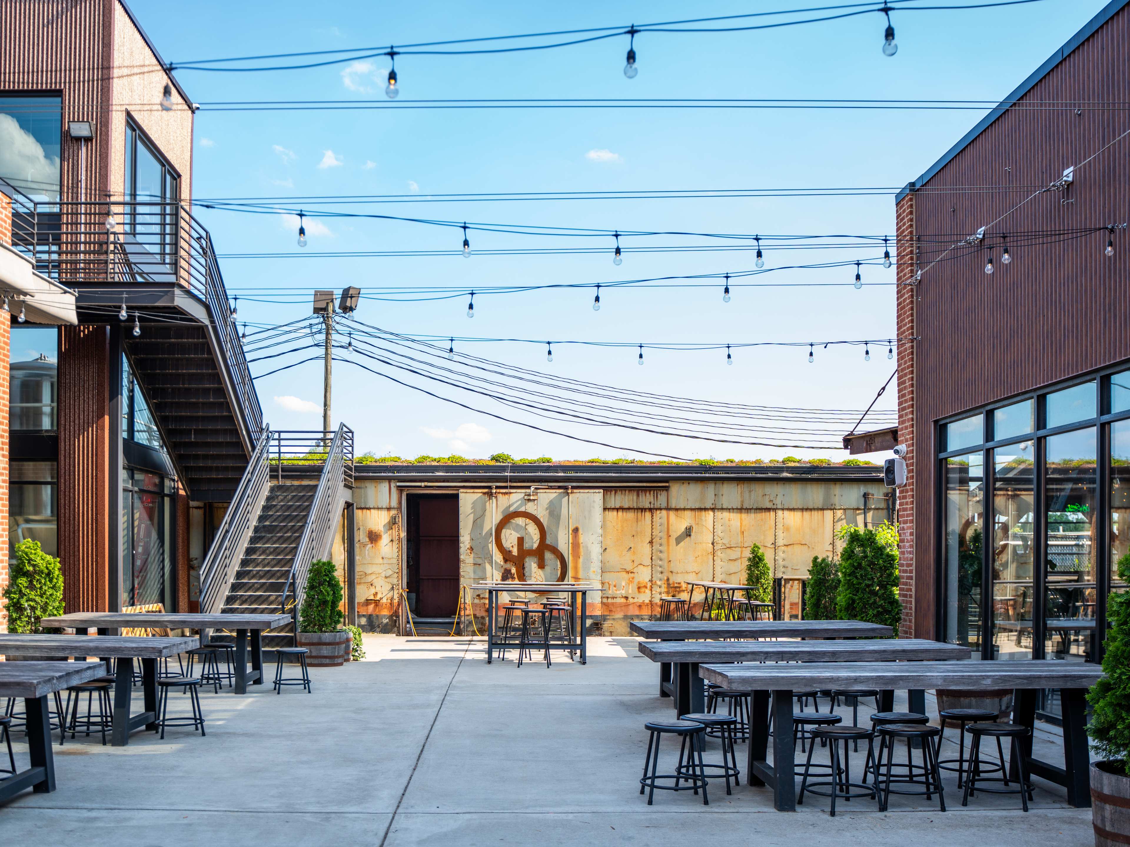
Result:
M903 604L898 600L898 530L889 523L868 530L844 526L840 538L846 543L840 551L837 617L883 623L897 632L903 619Z

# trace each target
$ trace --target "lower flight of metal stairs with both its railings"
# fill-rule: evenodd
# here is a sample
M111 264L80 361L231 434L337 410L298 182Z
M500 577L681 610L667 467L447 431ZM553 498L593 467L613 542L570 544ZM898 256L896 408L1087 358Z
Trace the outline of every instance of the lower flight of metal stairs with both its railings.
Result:
M344 424L329 444L321 433L266 433L201 567L200 610L289 612L263 648L293 646L310 565L329 558L353 482Z

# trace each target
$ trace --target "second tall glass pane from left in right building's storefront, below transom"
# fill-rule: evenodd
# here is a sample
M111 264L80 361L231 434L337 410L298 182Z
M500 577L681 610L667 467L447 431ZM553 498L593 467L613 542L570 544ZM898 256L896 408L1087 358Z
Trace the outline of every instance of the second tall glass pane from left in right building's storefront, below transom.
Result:
M1025 442L992 452L993 658L1032 658L1033 445Z

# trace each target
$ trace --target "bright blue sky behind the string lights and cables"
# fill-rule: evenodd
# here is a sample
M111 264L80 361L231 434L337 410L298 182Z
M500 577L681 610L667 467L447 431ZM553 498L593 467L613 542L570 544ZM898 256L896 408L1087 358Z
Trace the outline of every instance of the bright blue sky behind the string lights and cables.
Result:
M1048 0L1003 9L896 14L899 50L880 52L881 16L767 33L645 34L636 38L638 76L623 75L626 38L501 56L401 56L399 103L434 98L968 98L999 99L1079 29L1104 3ZM363 45L618 25L785 8L788 3L276 2L198 0L191 14L166 2L131 8L166 60L332 50ZM229 99L383 99L388 60L368 67L177 78L197 102ZM346 71L344 73L344 71ZM368 89L368 90L366 90ZM197 116L198 199L310 194L419 194L498 191L896 186L916 177L981 116L970 111L559 110L234 112ZM327 151L331 151L328 154ZM605 152L600 152L605 151ZM321 165L321 166L320 166ZM893 235L889 197L803 199L606 200L382 206L390 215L608 229L768 234ZM223 253L299 254L292 221L199 210ZM307 226L306 252L436 250L458 246L458 230L374 220ZM546 237L475 234L472 247L557 246ZM663 239L657 239L662 242ZM668 239L670 243L672 239ZM310 312L314 288L356 285L472 289L513 282L585 282L753 268L748 253L627 254L615 268L594 255L221 260L240 297L240 318L281 323ZM772 264L855 259L857 254L766 254ZM893 282L894 270L863 269L864 282ZM846 268L782 271L774 281L850 281ZM289 291L289 303L257 303L251 289ZM301 296L299 296L301 295ZM894 334L894 289L536 291L432 303L363 300L358 317L406 333L616 341L822 341ZM886 349L647 351L555 346L468 346L501 361L550 375L707 400L785 407L861 409L894 369ZM301 358L301 357L294 357ZM255 366L255 373L267 370ZM258 382L276 428L318 428L321 367L303 365ZM455 396L455 392L445 390ZM888 391L883 408L894 408ZM307 401L306 410L294 400ZM507 413L484 399L463 402ZM495 452L555 459L615 457L651 449L688 457L784 454L842 457L828 449L679 442L670 437L563 429L629 449L616 451L528 430L402 388L339 364L333 419L357 431L357 449L401 456L477 457Z

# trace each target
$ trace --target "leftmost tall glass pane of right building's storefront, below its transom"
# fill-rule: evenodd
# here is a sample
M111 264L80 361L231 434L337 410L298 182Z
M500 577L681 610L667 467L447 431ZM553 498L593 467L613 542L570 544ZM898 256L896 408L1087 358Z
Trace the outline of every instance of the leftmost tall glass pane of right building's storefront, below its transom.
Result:
M984 535L981 453L946 460L946 640L981 649Z

